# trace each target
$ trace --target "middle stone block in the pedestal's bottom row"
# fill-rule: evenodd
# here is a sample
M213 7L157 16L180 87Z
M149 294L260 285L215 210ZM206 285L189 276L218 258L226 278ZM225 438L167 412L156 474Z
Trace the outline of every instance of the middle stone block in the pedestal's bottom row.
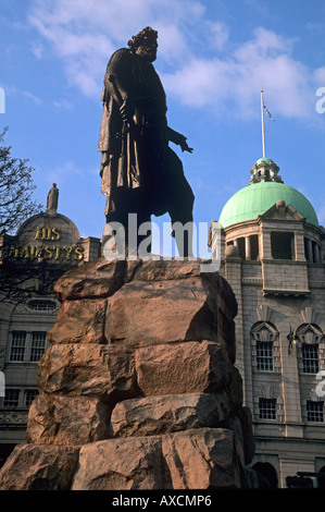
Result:
M82 447L72 490L161 488L160 437L109 439Z

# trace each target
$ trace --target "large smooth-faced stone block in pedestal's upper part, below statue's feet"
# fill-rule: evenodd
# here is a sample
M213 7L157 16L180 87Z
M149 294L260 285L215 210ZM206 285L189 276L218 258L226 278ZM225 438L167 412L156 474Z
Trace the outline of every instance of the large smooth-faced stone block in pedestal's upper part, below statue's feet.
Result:
M146 346L175 341L217 341L216 315L200 278L133 281L108 301L105 337Z

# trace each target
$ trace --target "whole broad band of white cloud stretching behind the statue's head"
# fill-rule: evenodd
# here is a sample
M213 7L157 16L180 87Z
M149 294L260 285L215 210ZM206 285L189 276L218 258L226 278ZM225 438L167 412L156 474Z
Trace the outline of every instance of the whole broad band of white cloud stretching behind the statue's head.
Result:
M314 114L325 68L309 69L293 58L295 39L263 27L235 44L225 23L205 11L196 0L97 0L96 9L89 0L34 0L29 23L62 59L70 84L87 96L100 95L111 53L151 25L159 31L157 68L168 97L220 115L255 117L264 89L274 117ZM45 54L40 42L34 52Z

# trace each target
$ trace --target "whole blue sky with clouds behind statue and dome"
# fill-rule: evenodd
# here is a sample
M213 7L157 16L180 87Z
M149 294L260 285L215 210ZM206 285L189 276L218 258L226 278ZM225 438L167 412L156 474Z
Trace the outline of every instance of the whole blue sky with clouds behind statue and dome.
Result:
M324 0L0 0L0 126L13 156L36 169L36 198L45 204L55 182L59 211L82 236L101 237L102 80L111 53L147 25L159 32L168 124L195 148L175 148L195 220L218 219L248 184L262 157L263 89L275 119L265 118L266 156L324 225Z

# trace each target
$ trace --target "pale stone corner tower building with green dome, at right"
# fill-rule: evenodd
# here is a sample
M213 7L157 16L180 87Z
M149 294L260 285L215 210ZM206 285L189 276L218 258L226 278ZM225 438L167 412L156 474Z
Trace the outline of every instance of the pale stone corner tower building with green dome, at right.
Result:
M265 486L317 487L325 471L325 230L273 160L261 158L250 172L218 222L221 273L238 302L236 361L253 416L252 466Z

